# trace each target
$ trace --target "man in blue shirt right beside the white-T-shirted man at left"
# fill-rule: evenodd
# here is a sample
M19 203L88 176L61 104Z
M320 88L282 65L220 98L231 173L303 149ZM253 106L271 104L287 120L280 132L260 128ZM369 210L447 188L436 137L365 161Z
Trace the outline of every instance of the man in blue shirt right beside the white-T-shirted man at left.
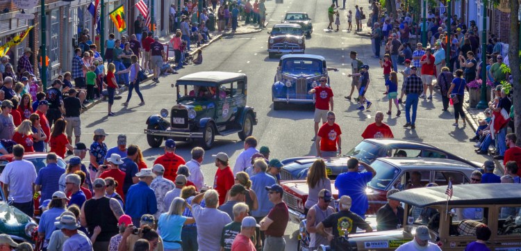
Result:
M47 166L40 169L35 181L35 191L42 191L40 202L51 199L54 192L60 190L60 177L65 169L58 165L58 156L51 152L47 154Z

